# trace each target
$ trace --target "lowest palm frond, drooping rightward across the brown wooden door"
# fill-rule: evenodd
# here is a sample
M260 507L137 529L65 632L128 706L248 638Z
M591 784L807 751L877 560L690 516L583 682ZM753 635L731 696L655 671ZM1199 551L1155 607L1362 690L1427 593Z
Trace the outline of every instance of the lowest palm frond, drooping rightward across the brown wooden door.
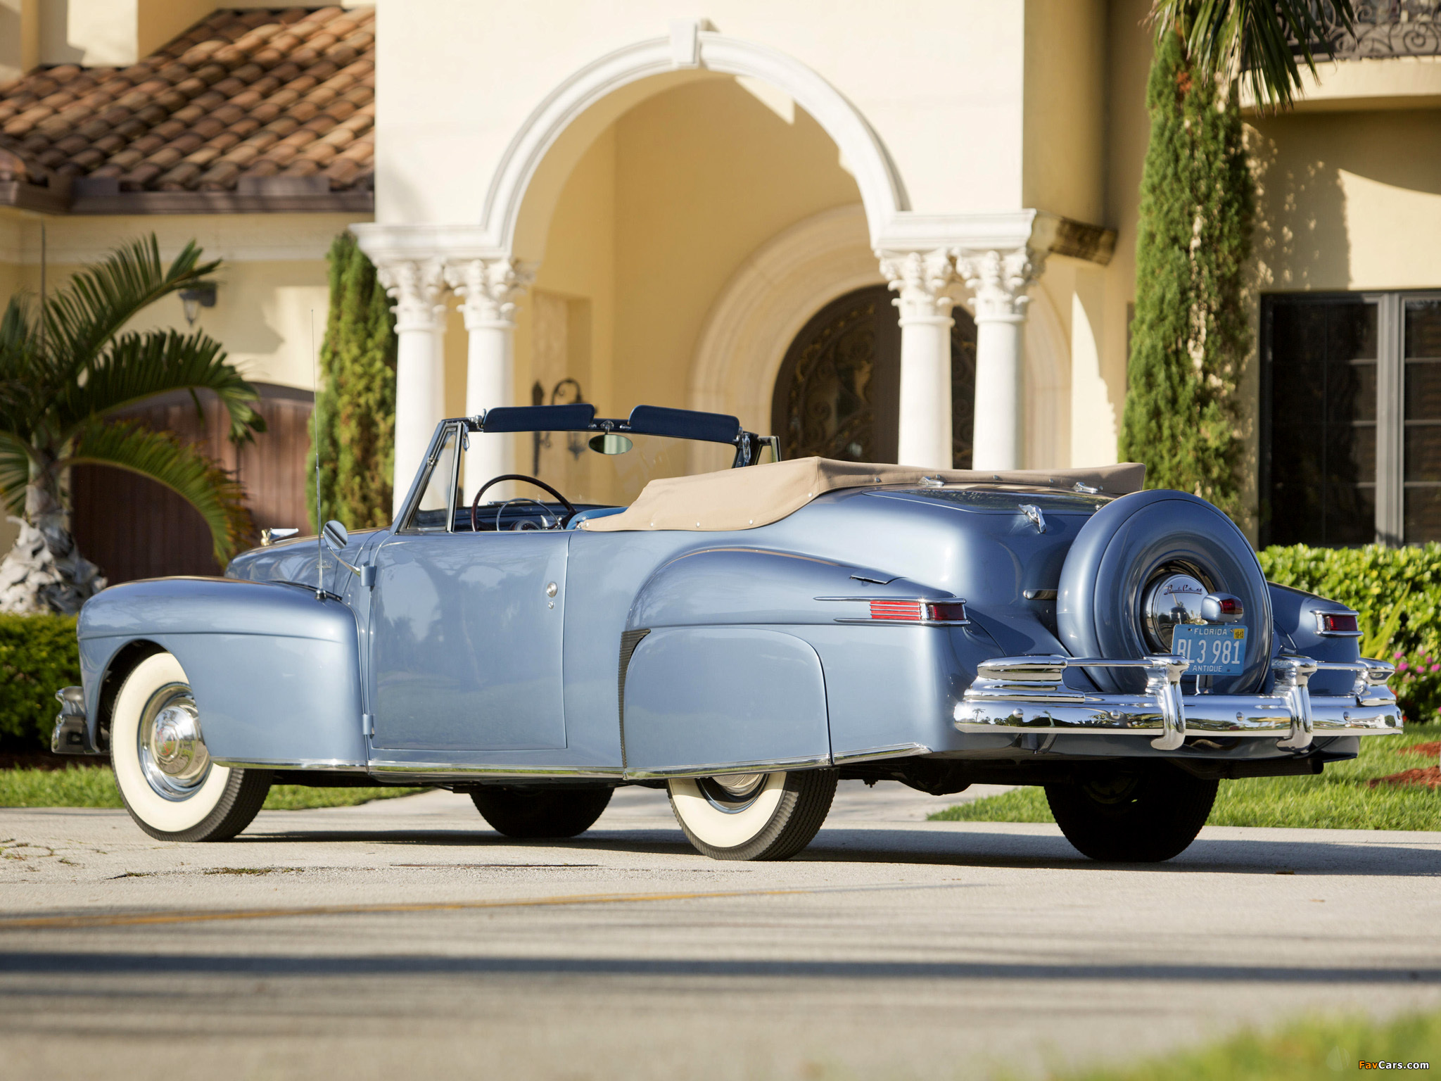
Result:
M174 432L151 431L134 421L89 421L75 434L69 455L58 463L61 468L73 466L110 466L164 484L200 512L220 566L254 536L239 481Z

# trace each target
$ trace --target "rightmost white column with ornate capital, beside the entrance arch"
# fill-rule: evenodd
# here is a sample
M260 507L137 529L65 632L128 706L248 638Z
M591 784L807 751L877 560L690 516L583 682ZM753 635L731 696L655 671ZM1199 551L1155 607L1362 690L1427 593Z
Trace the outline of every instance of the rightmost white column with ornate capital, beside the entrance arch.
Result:
M958 252L955 272L976 298L976 432L971 468L1020 468L1022 332L1026 287L1040 274L1040 255L1029 248L1009 252Z

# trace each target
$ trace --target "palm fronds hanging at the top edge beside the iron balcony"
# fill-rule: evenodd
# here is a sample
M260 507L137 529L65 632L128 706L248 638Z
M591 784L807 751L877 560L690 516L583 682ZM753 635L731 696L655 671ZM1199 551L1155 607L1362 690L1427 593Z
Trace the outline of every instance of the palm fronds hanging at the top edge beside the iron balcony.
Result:
M1330 20L1323 9L1330 9ZM1154 0L1156 36L1179 33L1200 72L1242 79L1262 108L1290 108L1301 88L1297 56L1316 75L1316 55L1334 55L1330 32L1356 23L1352 0Z

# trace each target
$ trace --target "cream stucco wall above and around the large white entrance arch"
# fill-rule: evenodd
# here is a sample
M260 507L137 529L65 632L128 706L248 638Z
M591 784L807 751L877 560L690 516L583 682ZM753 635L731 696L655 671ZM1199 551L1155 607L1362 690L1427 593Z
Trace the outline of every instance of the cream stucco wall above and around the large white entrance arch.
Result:
M1020 208L1023 4L924 0L904 20L860 0L718 0L703 13L844 94L891 150L915 209ZM382 4L378 221L480 221L506 144L555 86L695 16L683 0Z

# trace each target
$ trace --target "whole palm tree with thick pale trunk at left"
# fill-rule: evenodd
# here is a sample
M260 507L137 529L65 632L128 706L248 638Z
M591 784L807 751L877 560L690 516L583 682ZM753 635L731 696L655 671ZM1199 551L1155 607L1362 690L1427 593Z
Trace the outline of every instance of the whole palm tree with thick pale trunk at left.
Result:
M265 424L258 395L203 333L122 332L143 308L192 288L219 267L192 241L170 267L154 235L79 271L48 301L10 298L0 317L0 502L22 513L20 539L0 562L0 611L73 613L104 588L69 530L66 473L110 466L186 499L225 561L251 530L239 483L173 432L114 419L167 391L212 391L244 441Z

